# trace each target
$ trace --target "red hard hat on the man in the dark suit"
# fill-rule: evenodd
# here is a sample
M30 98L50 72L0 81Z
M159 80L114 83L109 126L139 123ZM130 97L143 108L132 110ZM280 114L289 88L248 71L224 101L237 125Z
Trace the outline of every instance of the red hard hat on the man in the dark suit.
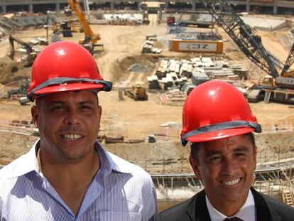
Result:
M230 136L261 132L248 102L236 87L211 80L195 87L183 107L181 141L213 141Z

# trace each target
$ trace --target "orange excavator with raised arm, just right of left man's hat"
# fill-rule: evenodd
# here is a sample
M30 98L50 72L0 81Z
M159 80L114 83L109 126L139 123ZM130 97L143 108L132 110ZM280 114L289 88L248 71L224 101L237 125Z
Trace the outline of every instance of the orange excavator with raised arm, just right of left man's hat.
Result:
M95 47L99 47L101 48L101 50L104 50L103 44L97 44L97 41L99 41L101 38L99 35L94 34L91 27L89 26L89 22L87 21L86 15L84 11L82 11L80 1L68 0L68 4L70 5L72 11L74 11L77 17L79 18L79 21L82 24L85 32L85 39L81 40L79 43L83 45L87 50L89 50L89 52L92 54L98 52L98 50L96 50Z

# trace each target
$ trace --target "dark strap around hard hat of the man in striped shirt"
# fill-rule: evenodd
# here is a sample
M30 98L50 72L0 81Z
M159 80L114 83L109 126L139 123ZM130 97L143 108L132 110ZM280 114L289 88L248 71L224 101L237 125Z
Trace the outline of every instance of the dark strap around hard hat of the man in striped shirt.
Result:
M31 100L33 102L33 93L36 92L37 90L40 90L43 87L48 87L51 85L63 85L63 84L67 84L67 83L75 83L75 82L86 82L86 83L94 83L94 84L102 84L103 87L102 91L106 91L109 92L112 88L112 82L107 81L107 80L98 80L98 79L90 79L90 78L73 78L73 77L55 77L53 79L50 80L46 80L45 82L43 82L43 84L38 85L38 87L35 87L29 94L28 94L28 99Z

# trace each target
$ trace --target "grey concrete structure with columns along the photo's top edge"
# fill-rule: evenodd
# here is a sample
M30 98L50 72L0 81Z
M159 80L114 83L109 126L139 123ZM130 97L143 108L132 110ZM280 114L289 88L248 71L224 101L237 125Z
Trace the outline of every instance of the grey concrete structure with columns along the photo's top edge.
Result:
M141 9L142 2L146 3L152 0L133 0L132 3L138 10ZM229 1L229 0L228 0ZM183 6L185 10L195 10L200 8L200 0L160 0L158 1L163 5L165 10L177 10ZM254 10L256 7L266 8L271 10L273 14L281 14L285 11L291 13L294 9L294 1L281 1L281 0L236 0L229 1L234 6L241 6L244 11ZM130 4L130 1L124 0L92 0L92 4L89 6L90 9L95 8L94 6L102 6L106 9L116 9L119 4ZM67 0L0 0L0 11L3 13L9 11L59 11L67 5ZM125 6L126 6L125 5Z

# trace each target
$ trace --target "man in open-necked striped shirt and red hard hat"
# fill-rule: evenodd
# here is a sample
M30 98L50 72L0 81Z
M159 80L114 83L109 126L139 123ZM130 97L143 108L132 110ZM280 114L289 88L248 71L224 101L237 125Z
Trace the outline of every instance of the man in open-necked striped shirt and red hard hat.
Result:
M151 176L96 141L110 90L81 45L42 50L27 96L40 139L0 171L0 220L154 220Z

